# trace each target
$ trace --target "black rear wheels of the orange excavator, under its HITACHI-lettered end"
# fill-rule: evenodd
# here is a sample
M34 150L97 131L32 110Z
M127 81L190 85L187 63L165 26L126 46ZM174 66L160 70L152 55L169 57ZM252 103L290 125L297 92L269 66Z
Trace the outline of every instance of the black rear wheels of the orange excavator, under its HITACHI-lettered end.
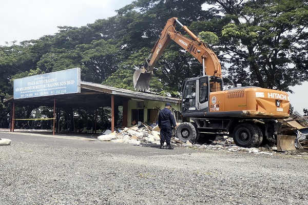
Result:
M233 131L233 140L239 147L252 148L259 146L260 136L256 126L243 123L235 127Z

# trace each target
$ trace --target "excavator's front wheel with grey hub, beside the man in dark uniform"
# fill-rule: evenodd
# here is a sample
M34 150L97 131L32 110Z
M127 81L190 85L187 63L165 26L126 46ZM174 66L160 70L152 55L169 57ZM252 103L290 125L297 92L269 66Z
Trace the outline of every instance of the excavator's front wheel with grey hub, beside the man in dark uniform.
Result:
M190 141L194 143L197 137L197 130L192 123L183 122L177 126L176 137L183 142Z

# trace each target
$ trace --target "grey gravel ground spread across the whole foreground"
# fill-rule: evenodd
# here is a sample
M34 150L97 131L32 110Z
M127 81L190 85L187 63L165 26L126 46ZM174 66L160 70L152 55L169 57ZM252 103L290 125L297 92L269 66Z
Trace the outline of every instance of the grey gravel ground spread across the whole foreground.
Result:
M305 153L172 151L123 155L12 141L0 146L0 204L308 204Z

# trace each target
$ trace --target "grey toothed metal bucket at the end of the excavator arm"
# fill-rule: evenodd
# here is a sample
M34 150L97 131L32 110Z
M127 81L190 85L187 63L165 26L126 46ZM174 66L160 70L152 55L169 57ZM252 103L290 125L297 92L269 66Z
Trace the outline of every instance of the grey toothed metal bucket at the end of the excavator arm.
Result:
M144 72L145 69L137 69L133 73L133 87L139 91L147 91L150 87L151 73Z

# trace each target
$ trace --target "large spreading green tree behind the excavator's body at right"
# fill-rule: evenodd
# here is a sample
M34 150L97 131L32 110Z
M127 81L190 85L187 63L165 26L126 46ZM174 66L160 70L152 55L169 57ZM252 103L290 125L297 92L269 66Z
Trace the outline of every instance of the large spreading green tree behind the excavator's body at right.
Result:
M292 92L290 86L307 79L306 1L206 3L222 13L214 19L221 29L218 49L222 61L230 64L228 77L234 83Z

